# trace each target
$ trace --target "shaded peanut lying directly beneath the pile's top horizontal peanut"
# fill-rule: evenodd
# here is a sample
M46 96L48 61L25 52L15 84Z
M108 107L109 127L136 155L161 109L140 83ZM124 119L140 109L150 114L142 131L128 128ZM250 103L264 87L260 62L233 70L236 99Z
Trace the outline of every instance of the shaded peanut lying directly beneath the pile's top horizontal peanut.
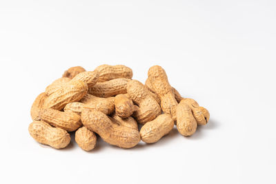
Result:
M96 83L89 88L88 93L98 97L116 96L126 93L126 84L130 79L112 79L110 81Z

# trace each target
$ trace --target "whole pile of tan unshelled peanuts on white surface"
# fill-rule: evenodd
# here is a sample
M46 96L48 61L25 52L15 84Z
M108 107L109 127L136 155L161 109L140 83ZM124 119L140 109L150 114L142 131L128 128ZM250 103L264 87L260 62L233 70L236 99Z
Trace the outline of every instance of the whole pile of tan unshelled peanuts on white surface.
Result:
M148 70L145 84L132 80L132 70L124 65L100 65L90 72L69 68L37 96L30 114L28 130L37 142L60 149L70 143L68 132L75 132L86 151L95 148L96 134L110 145L130 148L141 140L156 143L175 124L181 135L191 136L210 117L170 86L159 65Z

